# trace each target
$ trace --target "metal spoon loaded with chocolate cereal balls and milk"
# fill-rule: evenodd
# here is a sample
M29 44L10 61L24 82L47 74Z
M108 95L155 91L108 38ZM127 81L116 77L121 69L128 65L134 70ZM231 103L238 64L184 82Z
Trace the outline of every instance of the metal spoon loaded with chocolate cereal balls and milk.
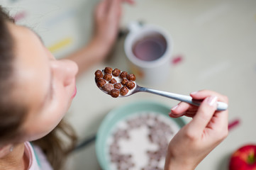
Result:
M167 91L159 91L138 86L135 82L135 75L121 72L119 69L111 69L106 67L104 70L97 70L95 72L95 81L99 89L112 97L127 97L137 92L148 92L150 94L157 94L165 96L177 101L184 101L194 106L200 106L202 101L194 100L191 96L182 94L169 93ZM217 111L225 111L228 108L226 103L218 101Z

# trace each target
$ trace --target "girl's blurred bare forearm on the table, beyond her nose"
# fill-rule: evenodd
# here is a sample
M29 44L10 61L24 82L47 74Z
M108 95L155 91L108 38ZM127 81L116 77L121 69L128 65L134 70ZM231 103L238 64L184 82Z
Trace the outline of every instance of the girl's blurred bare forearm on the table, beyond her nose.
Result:
M108 47L107 42L101 41L100 38L93 38L88 45L70 54L66 58L77 63L79 67L77 75L79 76L92 65L104 60L109 50L111 49Z

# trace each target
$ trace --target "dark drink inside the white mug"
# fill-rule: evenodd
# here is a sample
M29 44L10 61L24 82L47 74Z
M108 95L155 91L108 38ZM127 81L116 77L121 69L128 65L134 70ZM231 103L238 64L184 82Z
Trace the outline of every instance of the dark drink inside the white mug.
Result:
M133 45L133 54L143 61L154 61L162 57L167 49L167 41L159 33L148 35Z

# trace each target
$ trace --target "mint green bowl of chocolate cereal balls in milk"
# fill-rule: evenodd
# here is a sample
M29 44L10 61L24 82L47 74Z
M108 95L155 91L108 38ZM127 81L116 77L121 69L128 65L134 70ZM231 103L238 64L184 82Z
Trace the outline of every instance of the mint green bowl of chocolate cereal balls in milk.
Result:
M135 101L113 109L96 135L96 157L102 169L163 169L167 145L185 125L170 118L169 106Z

